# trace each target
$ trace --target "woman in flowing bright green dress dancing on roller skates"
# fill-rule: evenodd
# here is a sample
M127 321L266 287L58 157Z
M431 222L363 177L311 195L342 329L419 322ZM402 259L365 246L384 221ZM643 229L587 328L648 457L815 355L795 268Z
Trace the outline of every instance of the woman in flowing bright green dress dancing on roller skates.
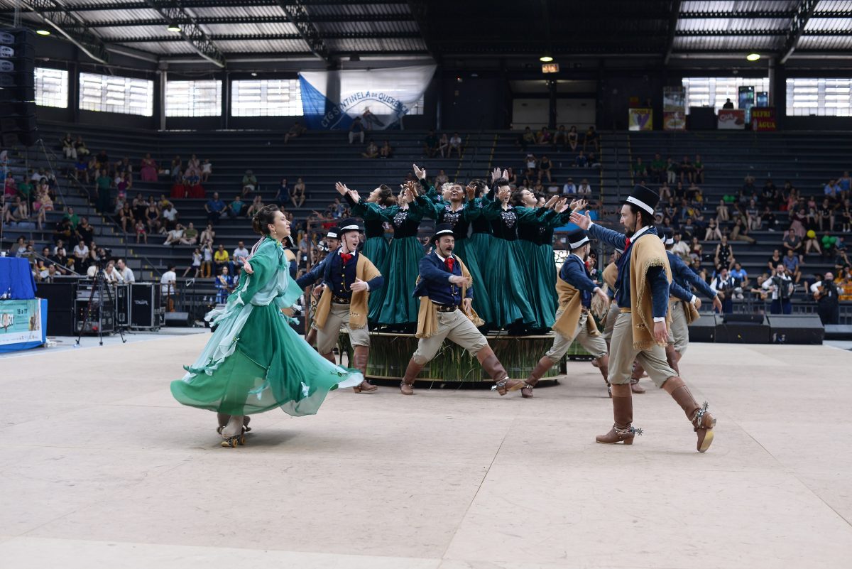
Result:
M275 407L294 417L313 415L329 391L364 381L320 356L281 312L302 294L281 246L290 235L284 213L267 205L252 225L264 237L226 307L208 314L216 331L199 359L184 367L183 379L171 382L181 404L230 416L220 429L222 446L230 447L245 444L245 416Z

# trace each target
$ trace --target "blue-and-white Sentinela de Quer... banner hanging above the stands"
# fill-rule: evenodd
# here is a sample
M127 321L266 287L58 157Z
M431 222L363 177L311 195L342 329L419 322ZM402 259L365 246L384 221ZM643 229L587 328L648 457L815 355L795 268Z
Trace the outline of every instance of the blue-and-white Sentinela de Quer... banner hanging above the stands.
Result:
M360 117L365 129L398 129L400 119L423 97L435 68L300 72L305 123L308 129L348 129Z

